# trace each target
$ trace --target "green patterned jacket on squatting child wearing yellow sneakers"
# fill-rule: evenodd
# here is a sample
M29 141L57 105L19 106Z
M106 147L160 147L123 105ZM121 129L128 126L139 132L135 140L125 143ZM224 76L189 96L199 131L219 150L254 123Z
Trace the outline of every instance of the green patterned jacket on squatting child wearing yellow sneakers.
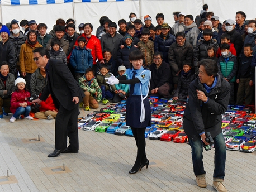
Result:
M84 92L86 90L90 92L92 97L97 92L96 100L97 102L101 101L101 97L102 97L101 88L99 87L98 81L95 78L92 78L90 81L88 81L86 79L86 75L83 75L81 78L79 78L79 85Z

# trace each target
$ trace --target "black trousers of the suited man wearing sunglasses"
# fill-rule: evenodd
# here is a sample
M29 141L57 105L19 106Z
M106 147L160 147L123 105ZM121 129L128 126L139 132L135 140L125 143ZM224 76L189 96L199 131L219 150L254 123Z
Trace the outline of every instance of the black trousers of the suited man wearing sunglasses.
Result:
M79 105L77 104L75 108L67 110L60 105L55 121L55 148L58 150L67 148L67 137L69 137L68 149L72 151L78 151L79 149L77 128L78 107Z

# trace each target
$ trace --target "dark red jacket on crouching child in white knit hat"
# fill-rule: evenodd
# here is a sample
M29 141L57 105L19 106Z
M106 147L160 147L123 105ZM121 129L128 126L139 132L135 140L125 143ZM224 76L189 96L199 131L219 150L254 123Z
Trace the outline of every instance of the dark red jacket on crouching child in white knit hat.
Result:
M30 97L30 92L26 90L16 90L13 92L12 97L11 97L11 107L10 111L12 114L16 112L16 109L20 106L20 103L27 103L27 106L30 106L32 103L27 101L27 98Z

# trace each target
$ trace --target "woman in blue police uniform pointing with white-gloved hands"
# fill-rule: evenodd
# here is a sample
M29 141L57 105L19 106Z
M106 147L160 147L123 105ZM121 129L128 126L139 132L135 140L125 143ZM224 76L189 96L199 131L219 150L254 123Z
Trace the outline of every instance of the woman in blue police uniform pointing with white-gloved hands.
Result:
M148 99L151 72L143 68L144 54L140 50L132 51L129 55L132 68L118 76L108 79L109 84L130 84L129 98L126 102L126 124L132 129L136 146L137 157L129 174L136 174L142 167L148 168L149 160L146 158L145 129L151 125L151 111Z

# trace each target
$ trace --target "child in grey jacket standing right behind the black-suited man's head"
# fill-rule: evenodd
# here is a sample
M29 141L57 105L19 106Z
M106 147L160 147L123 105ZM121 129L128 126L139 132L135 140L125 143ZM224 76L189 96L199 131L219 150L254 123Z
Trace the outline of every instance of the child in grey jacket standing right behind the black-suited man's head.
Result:
M49 53L51 59L63 61L65 65L68 65L67 56L63 49L60 47L60 41L58 39L53 38L51 40L51 47Z

